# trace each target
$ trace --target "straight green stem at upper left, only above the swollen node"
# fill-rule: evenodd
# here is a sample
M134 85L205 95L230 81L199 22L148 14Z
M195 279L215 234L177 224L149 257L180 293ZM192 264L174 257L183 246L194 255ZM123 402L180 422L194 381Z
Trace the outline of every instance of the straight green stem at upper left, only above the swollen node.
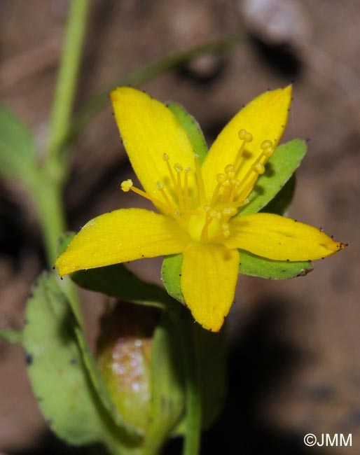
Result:
M69 131L89 8L90 0L70 1L69 20L50 115L49 158L57 158Z

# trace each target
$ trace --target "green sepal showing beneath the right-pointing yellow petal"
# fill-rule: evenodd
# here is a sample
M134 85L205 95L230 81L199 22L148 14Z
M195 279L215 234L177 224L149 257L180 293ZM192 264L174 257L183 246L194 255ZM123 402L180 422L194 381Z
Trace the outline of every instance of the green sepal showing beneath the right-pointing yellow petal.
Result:
M256 256L249 251L240 251L239 272L244 275L259 276L267 279L287 279L305 276L314 269L312 262L287 262L270 260Z

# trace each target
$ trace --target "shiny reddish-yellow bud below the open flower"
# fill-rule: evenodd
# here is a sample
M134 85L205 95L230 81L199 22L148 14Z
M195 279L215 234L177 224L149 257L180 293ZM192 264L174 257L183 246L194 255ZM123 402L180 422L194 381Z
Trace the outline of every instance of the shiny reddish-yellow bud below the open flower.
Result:
M118 302L101 321L97 363L123 419L144 430L151 402L151 345L155 309Z

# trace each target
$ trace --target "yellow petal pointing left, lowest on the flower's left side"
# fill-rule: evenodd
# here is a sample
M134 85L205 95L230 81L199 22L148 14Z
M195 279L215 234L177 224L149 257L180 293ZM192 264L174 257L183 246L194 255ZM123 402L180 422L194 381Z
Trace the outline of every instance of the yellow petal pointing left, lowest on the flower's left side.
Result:
M55 261L60 275L140 258L180 253L188 237L171 218L121 209L85 224Z

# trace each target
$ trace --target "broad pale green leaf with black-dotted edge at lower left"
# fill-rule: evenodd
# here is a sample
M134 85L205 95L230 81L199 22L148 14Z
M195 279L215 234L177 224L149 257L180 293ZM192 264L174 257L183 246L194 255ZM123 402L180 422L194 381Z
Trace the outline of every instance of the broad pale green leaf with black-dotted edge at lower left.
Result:
M115 426L92 387L74 327L58 278L42 274L27 302L23 337L29 379L41 412L69 444L102 442L113 454L121 454L127 435Z

